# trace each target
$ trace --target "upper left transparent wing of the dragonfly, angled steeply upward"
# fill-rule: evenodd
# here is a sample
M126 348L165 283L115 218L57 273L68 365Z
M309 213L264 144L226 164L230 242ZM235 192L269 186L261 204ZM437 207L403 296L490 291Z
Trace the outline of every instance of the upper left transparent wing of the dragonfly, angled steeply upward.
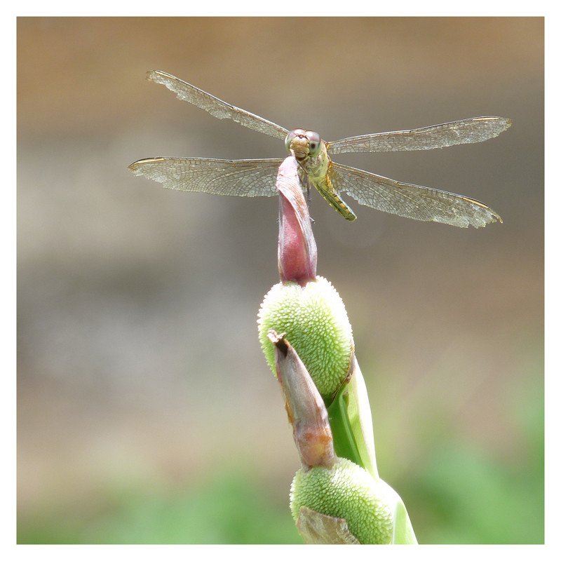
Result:
M208 111L217 119L232 119L244 127L257 130L258 133L281 138L282 140L285 140L286 135L288 135L287 129L271 123L271 121L267 121L263 117L245 111L245 109L234 107L234 105L219 100L214 95L191 86L190 83L175 78L171 74L166 74L159 70L149 70L147 72L147 79L163 84L168 90L173 91L180 100L187 101L196 105L196 107Z

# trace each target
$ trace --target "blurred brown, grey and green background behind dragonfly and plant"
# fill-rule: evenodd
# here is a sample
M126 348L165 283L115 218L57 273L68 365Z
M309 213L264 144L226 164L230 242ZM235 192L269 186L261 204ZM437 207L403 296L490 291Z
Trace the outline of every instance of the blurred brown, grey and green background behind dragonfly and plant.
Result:
M314 193L379 473L420 543L543 542L543 19L19 18L18 542L302 543L257 310L276 198L162 189L149 156L284 157L159 69L325 140L499 115L482 144L337 157L477 198L485 229ZM349 197L347 197L349 198Z

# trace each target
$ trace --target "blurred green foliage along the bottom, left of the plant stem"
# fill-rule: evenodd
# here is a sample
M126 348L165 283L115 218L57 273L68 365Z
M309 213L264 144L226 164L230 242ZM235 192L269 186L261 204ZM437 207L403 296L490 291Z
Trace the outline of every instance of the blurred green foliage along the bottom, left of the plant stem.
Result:
M104 507L90 516L36 513L20 525L18 543L302 543L288 486L285 504L278 505L254 480L226 473L183 492L107 489Z

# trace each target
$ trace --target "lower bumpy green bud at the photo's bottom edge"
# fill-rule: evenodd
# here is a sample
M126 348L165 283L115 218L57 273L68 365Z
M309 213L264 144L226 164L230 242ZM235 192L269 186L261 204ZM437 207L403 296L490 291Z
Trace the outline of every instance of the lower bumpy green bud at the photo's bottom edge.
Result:
M393 518L382 487L350 460L297 471L290 487L290 511L296 522L302 506L344 518L360 543L391 543Z

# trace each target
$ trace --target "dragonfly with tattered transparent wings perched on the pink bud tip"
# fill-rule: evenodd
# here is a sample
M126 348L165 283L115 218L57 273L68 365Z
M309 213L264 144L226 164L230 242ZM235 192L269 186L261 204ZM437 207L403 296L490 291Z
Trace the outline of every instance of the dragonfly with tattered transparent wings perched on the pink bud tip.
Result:
M361 205L416 220L462 228L503 222L494 210L474 198L351 168L335 163L330 154L428 150L482 142L498 136L511 126L510 119L475 117L424 128L325 142L314 131L302 128L288 130L219 100L171 74L151 70L147 79L162 84L180 100L208 111L217 119L232 119L258 133L284 140L285 148L299 163L299 178L308 196L311 186L315 187L332 208L349 221L356 219L356 214L342 200L342 192ZM135 161L129 168L135 175L159 182L168 189L215 195L274 196L277 194L276 174L282 161L282 158L221 160L156 157Z

